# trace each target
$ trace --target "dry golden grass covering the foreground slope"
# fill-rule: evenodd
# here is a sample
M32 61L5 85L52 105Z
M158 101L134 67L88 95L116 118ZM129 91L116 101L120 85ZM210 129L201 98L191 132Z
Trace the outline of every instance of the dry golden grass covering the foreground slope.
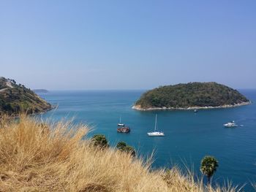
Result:
M46 126L21 116L0 122L0 191L236 191L211 188L178 169L150 164L83 140L86 126Z

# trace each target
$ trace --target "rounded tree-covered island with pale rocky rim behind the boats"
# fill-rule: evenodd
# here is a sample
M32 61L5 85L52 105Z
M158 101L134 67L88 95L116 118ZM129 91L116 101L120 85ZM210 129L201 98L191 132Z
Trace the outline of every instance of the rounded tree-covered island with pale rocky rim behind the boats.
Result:
M238 91L217 82L165 85L146 91L132 107L135 110L193 110L250 104Z

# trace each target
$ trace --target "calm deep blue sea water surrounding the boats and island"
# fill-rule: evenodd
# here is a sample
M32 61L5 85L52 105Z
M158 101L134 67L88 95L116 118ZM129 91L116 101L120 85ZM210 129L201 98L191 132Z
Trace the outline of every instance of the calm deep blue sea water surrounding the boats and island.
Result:
M193 167L200 173L200 160L204 155L214 155L219 169L214 181L233 184L246 183L246 191L253 191L256 183L256 90L241 90L253 103L229 109L193 111L139 112L132 104L143 91L50 91L42 98L59 108L42 115L59 120L75 117L74 123L87 123L93 131L105 134L110 145L119 141L134 146L146 157L154 151L153 167ZM159 130L165 137L148 137L154 129L158 114ZM129 134L118 134L119 116L131 128ZM236 120L237 128L223 128L223 123Z

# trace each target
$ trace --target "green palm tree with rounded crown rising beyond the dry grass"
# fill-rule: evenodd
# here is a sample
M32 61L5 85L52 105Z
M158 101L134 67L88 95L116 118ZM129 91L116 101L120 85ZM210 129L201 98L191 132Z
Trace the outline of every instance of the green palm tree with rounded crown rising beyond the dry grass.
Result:
M213 156L205 156L202 159L200 171L206 175L208 178L208 183L210 183L211 177L214 175L214 172L217 171L218 166L218 161Z

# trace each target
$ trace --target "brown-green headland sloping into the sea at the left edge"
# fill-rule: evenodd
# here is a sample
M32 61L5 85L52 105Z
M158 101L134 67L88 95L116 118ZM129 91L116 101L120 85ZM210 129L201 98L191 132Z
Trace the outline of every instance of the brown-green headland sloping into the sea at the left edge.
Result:
M51 105L24 85L15 80L0 77L0 112L17 114L19 112L45 112Z

